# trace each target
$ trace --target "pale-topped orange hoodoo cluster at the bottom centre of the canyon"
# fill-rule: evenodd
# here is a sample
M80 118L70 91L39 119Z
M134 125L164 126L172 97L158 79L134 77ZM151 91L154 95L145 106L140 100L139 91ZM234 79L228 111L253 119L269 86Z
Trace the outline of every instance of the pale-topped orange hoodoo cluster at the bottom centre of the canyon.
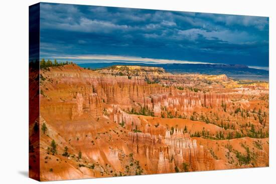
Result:
M154 166L156 173L183 170L183 164L187 164L190 171L215 168L215 160L209 151L197 145L196 139L191 139L189 133L182 130L174 129L173 134L167 130L165 138L150 133L128 132L128 146L134 153L158 160Z

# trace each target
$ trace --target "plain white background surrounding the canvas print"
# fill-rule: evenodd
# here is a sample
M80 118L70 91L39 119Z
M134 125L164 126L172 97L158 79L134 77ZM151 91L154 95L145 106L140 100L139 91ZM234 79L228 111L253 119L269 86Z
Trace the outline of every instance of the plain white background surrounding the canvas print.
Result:
M82 5L177 10L269 17L270 166L266 168L127 176L47 183L276 183L275 5L245 0L79 0L47 1ZM28 178L28 6L38 1L6 0L0 6L0 183L37 183ZM274 53L273 53L274 51ZM274 79L274 81L273 81ZM274 114L273 114L274 113ZM274 140L274 141L273 141Z

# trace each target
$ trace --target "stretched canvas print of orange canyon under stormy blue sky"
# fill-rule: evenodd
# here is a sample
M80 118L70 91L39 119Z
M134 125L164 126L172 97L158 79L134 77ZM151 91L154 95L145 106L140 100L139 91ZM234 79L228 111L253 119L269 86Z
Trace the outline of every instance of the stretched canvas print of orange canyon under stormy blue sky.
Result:
M31 178L269 165L267 17L29 11Z

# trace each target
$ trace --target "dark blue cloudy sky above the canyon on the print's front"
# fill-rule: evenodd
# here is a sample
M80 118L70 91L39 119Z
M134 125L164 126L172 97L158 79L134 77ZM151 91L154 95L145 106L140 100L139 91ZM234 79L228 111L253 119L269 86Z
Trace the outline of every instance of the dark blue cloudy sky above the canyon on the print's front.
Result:
M268 68L266 17L41 3L40 58Z

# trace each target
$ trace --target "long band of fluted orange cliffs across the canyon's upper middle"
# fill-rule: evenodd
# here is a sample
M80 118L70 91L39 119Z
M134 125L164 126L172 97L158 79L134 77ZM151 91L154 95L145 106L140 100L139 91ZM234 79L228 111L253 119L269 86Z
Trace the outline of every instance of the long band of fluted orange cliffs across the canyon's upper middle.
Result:
M80 69L81 70L81 69ZM70 70L69 70L70 71ZM50 73L50 74L48 74ZM141 111L142 107L153 111L155 116L162 113L173 115L191 115L195 107L220 107L229 103L227 94L212 92L193 92L178 90L174 87L164 87L159 84L148 84L145 77L101 76L98 73L63 73L60 71L46 72L46 77L61 77L57 83L66 86L64 91L70 94L72 103L72 118L82 111L88 111L93 117L100 116L102 104L120 105L124 110ZM52 74L54 73L54 74ZM77 83L77 84L76 84ZM57 86L55 84L55 86ZM62 100L62 99L59 99Z

